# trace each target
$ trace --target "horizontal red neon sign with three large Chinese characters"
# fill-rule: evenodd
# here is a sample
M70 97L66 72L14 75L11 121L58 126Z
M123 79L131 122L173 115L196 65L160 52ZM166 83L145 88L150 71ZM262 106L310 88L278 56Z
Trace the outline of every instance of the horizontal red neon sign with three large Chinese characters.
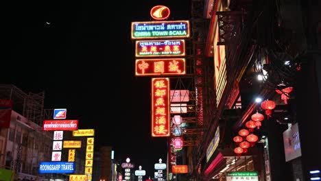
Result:
M185 58L136 59L135 75L185 75Z

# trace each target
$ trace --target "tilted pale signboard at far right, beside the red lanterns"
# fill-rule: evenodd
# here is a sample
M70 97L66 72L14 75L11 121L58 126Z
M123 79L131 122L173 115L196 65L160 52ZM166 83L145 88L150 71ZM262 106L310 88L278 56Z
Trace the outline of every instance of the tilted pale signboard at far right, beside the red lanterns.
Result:
M285 161L301 156L301 143L299 138L298 123L283 132Z

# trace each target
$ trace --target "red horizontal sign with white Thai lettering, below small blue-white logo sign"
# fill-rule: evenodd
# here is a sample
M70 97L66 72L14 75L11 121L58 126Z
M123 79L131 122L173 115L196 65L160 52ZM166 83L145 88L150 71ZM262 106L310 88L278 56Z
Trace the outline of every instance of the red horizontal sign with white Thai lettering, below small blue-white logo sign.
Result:
M78 120L45 120L44 131L72 131L78 130Z

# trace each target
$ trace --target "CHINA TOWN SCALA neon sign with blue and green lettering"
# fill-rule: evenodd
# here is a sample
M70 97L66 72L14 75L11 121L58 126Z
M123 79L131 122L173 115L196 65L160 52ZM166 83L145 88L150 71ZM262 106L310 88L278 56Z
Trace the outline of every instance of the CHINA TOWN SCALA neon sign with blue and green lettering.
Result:
M189 38L189 21L132 22L132 39Z

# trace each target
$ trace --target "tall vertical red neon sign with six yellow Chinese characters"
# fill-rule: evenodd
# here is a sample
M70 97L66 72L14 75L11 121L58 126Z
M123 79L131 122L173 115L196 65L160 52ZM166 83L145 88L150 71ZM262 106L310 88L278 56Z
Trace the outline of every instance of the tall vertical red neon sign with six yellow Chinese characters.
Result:
M169 78L152 78L152 137L170 134Z

